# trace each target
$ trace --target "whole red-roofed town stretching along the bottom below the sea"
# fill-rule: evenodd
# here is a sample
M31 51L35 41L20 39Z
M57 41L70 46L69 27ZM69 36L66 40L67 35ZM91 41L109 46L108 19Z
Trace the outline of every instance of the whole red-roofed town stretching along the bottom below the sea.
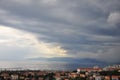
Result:
M120 65L75 71L5 70L0 72L0 80L120 80Z

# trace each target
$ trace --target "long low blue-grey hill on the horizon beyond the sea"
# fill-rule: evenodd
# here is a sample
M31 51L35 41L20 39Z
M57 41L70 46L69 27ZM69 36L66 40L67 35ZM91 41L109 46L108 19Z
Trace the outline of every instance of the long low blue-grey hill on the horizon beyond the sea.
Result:
M103 61L90 58L71 58L71 57L53 57L53 58L30 58L29 60L39 60L39 61L56 61L56 62L70 62L70 63L97 63L97 64L106 64Z

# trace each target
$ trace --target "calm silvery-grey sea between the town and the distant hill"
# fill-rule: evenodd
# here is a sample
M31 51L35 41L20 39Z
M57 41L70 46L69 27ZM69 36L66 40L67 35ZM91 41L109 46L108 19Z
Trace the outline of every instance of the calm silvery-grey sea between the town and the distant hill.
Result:
M80 67L93 67L94 65L95 64L43 61L0 61L0 69L76 70Z

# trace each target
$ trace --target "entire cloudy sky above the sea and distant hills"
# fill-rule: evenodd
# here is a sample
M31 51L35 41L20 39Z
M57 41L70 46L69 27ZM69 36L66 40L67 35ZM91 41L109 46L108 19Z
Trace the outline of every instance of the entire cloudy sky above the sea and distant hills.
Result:
M120 62L120 0L0 0L0 60Z

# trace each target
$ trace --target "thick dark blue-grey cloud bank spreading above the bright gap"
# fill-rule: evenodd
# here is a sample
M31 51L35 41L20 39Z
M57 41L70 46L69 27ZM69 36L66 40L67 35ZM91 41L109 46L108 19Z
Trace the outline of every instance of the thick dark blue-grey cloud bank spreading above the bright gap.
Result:
M71 57L119 61L120 0L1 0L0 15L0 24L61 44Z

